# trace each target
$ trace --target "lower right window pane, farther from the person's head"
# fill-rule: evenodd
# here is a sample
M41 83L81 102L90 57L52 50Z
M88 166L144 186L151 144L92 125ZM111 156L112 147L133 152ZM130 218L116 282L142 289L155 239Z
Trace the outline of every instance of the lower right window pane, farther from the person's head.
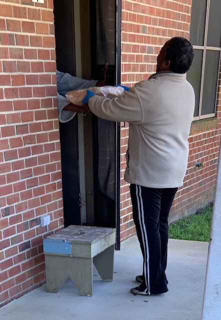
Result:
M204 73L202 115L215 112L220 51L207 50Z

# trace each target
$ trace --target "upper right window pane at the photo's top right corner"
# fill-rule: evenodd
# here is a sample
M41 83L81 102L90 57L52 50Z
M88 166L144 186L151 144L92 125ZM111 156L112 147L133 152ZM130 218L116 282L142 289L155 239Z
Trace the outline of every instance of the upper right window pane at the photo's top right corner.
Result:
M221 0L210 1L207 45L221 46Z

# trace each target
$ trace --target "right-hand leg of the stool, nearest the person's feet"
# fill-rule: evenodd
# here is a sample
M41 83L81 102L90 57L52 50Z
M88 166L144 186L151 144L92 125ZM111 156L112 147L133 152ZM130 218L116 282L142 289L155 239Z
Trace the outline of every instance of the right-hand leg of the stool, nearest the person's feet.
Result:
M113 280L114 244L93 258L94 265L103 280Z

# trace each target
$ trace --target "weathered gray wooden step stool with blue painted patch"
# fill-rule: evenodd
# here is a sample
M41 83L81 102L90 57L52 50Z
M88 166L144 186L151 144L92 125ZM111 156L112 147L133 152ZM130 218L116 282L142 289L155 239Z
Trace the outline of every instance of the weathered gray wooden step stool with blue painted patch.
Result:
M58 292L70 277L80 295L92 295L93 263L103 280L113 280L115 228L69 225L43 240L46 288Z

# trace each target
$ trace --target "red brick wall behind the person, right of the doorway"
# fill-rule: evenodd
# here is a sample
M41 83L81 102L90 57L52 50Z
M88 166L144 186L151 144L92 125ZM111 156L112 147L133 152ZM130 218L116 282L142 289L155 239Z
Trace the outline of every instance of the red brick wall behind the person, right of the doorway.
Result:
M122 1L122 83L133 85L156 70L156 57L172 36L189 38L192 0ZM221 92L221 86L219 86ZM221 117L221 93L217 117ZM193 214L213 201L221 127L197 121L190 135L190 156L184 186L179 189L170 221ZM121 240L135 234L128 184L124 181L128 124L121 129ZM195 167L196 161L203 167Z

